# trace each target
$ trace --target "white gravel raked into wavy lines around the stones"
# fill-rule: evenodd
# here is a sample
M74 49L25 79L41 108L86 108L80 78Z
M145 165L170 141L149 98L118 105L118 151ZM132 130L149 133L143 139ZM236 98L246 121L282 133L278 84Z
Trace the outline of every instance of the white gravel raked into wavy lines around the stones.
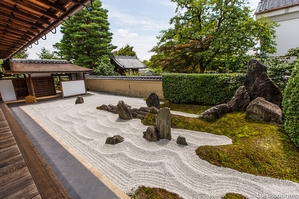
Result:
M94 94L83 96L84 104L75 104L76 98L66 98L22 108L125 193L134 192L141 185L161 187L186 199L220 199L228 192L248 198L299 193L299 183L215 166L196 155L199 146L231 144L226 136L171 129L171 141L150 142L142 138L147 126L140 119L123 120L116 113L96 109L102 104L116 105L119 100L132 108L146 107L143 98ZM124 137L125 141L105 144L106 138L114 135ZM176 143L179 135L186 137L188 146Z

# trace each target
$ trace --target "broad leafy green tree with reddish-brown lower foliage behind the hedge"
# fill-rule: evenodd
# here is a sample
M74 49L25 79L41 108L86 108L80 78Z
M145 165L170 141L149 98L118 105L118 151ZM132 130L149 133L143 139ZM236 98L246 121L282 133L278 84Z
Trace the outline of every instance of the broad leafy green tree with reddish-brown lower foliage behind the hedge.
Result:
M266 18L254 20L245 0L171 1L177 4L170 19L174 27L161 31L155 47L157 53L172 55L160 60L164 66L179 63L182 71L203 73L219 56L244 55L257 43L261 55L276 51L278 25ZM165 46L167 41L173 45Z

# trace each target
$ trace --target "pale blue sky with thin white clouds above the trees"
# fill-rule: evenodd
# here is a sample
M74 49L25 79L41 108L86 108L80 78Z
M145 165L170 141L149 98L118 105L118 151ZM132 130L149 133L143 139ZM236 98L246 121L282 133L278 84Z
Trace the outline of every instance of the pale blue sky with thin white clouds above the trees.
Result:
M260 0L250 0L249 6L256 9ZM102 7L109 10L108 21L113 33L112 44L120 47L127 43L133 46L138 58L149 60L153 53L148 53L158 42L156 36L161 30L171 27L170 18L175 16L176 4L170 0L102 0ZM53 51L53 44L62 38L60 28L57 33L47 34L47 40L39 40L38 45L28 49L31 59L38 58L36 53L42 47Z

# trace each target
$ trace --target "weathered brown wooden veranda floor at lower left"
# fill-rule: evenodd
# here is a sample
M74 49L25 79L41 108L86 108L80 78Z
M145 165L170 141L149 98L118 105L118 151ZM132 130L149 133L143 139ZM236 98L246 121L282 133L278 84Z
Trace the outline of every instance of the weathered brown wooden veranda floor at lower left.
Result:
M1 98L0 198L71 198Z

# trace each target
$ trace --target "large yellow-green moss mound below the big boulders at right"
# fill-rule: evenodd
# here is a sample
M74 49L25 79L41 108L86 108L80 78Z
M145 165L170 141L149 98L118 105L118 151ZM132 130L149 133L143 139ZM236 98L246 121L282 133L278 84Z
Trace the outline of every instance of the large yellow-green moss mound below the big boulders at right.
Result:
M154 121L155 114L149 113L141 122L153 125ZM245 112L235 112L215 121L171 115L171 128L231 138L231 145L200 146L196 149L196 154L211 164L299 182L299 149L282 127L252 120Z

